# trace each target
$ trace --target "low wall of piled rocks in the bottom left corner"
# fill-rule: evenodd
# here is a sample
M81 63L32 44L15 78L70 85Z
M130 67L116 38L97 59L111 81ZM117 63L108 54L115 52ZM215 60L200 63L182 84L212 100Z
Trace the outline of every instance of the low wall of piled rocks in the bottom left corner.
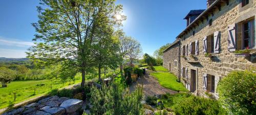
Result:
M61 114L80 114L83 101L66 97L49 97L31 103L24 107L13 109L3 113L3 115L28 114L28 115L61 115Z

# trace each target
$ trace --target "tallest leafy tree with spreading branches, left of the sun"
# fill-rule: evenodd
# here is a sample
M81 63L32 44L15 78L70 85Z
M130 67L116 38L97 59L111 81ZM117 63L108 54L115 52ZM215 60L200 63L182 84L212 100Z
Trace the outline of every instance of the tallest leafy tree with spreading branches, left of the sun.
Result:
M86 72L94 66L92 44L102 26L120 26L116 20L122 10L115 0L44 0L37 7L39 20L32 24L37 34L36 45L27 52L34 61L45 61L46 65L65 64L82 73L84 86Z

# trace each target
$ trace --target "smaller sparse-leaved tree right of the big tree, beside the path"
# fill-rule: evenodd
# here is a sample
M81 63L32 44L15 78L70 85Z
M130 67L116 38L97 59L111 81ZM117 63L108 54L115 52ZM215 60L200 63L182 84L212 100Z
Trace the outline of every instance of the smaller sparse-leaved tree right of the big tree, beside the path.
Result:
M119 38L120 50L119 55L122 59L129 59L130 63L138 58L139 54L142 52L140 43L133 37L127 37L124 35L122 30L116 32L116 36ZM120 63L120 72L122 73L123 64ZM122 75L122 74L121 74Z

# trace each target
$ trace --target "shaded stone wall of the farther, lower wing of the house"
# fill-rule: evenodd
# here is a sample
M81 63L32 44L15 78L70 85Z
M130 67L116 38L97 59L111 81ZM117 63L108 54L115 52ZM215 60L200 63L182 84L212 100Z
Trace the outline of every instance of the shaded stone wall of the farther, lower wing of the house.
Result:
M174 66L177 61L177 67ZM179 43L175 43L167 49L163 54L163 66L168 69L170 73L179 76Z

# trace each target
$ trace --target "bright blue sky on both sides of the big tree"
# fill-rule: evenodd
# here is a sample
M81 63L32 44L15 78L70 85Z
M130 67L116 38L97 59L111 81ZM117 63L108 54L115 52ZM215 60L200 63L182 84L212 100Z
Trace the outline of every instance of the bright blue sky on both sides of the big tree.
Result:
M190 10L206 9L206 0L117 0L127 19L121 27L136 38L143 53L153 55L166 43L172 43L186 27L183 19ZM39 0L0 1L0 57L24 58L33 45L38 20Z

